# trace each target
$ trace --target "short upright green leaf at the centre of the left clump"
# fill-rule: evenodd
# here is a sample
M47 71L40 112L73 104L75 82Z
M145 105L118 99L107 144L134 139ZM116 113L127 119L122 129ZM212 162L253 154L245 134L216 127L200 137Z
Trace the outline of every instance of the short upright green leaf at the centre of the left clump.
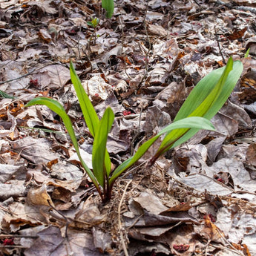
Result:
M99 128L96 131L93 142L93 174L102 188L105 188L105 177L111 171L111 160L106 154L108 133L114 122L114 113L111 108L107 108L99 121Z

